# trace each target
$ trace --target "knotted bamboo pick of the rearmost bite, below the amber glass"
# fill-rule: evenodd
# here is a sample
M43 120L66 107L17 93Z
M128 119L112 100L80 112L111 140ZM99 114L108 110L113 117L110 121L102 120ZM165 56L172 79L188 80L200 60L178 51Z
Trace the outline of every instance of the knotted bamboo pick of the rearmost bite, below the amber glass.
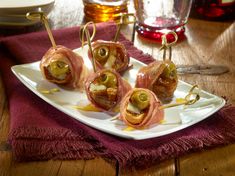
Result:
M130 19L130 17L132 17L132 18ZM115 34L115 37L114 37L113 41L117 42L123 24L134 24L133 25L133 30L132 30L132 39L131 39L131 41L134 42L134 40L135 40L136 17L133 13L124 13L124 14L121 15L120 22L117 24L118 28L117 28L117 32Z

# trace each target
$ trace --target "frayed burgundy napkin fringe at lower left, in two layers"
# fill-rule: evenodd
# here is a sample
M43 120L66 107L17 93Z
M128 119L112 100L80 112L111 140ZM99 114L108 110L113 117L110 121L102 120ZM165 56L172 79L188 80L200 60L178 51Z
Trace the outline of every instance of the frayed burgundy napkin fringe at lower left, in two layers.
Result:
M9 143L17 161L93 159L106 151L99 141L83 130L75 134L68 129L24 127L15 129L10 136Z

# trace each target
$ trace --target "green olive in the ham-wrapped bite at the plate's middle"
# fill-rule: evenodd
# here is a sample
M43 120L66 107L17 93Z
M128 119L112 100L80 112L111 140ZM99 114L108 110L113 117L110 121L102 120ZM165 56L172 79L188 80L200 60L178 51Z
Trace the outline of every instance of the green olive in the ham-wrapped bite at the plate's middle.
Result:
M111 72L104 72L99 78L99 83L106 87L117 87L117 78Z

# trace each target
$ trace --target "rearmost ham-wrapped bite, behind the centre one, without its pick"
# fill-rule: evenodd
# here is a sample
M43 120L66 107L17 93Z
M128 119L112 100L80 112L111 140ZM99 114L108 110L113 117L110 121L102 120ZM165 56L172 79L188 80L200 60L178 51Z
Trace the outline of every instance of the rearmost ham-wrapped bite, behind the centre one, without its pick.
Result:
M130 58L125 46L119 42L97 40L92 43L94 61L98 69L110 68L119 73L126 71L130 66ZM91 53L88 53L91 59Z

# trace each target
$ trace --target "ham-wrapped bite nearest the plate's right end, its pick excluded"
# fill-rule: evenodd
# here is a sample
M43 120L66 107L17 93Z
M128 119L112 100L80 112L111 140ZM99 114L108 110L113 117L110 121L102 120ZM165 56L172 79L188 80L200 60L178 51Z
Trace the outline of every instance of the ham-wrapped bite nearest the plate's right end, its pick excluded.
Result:
M154 61L139 70L135 87L147 88L162 102L167 103L171 101L177 83L177 70L172 61Z

